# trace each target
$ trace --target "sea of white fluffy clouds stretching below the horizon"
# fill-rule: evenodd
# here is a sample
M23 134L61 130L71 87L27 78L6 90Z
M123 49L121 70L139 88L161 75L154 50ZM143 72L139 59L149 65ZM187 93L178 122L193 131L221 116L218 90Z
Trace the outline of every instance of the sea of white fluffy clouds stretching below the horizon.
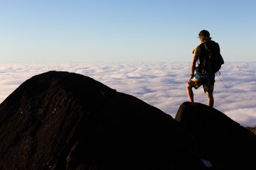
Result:
M92 77L174 118L181 103L188 101L190 67L188 62L1 63L0 103L26 79L55 70ZM221 69L223 82L215 77L214 108L243 126L256 125L255 70L255 62L227 62ZM195 102L207 104L202 87L193 92Z

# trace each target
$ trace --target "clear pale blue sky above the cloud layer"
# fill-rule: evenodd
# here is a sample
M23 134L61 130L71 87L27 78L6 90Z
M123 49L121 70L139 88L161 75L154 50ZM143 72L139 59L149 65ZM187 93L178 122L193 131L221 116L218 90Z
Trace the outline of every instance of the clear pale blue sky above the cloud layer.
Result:
M256 62L255 0L0 0L1 62L191 62L209 30L227 62Z

